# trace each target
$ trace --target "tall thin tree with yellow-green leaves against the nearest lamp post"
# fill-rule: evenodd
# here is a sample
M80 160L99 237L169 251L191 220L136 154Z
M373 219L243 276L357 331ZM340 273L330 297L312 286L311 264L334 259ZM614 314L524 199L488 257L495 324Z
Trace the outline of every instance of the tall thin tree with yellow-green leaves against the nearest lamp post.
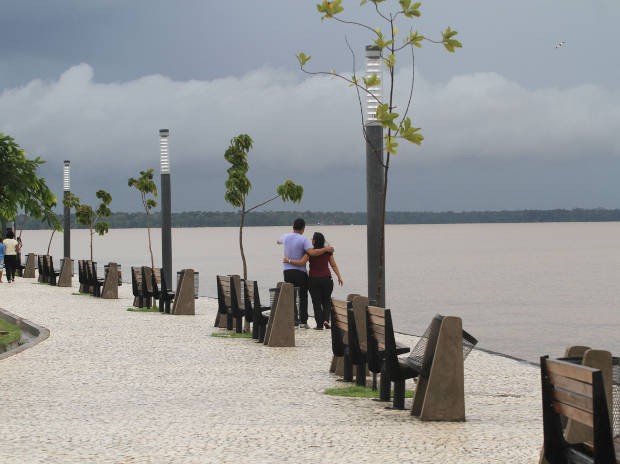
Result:
M391 157L392 155L395 155L397 153L399 140L406 140L407 142L414 143L416 145L420 145L422 143L422 140L424 140L424 137L420 133L420 128L414 127L411 122L411 118L409 117L409 111L411 109L411 103L413 99L415 48L421 47L423 42L425 41L433 44L441 44L448 52L454 52L457 48L461 48L461 43L454 38L457 32L453 31L450 27L446 28L441 33L441 38L436 40L429 38L411 28L411 22L415 18L419 18L421 16L420 2L414 3L411 0L397 0L396 2L393 2L397 5L394 5L392 10L389 11L387 8L384 7L383 4L385 3L388 3L387 0L362 0L360 3L360 6L372 4L377 14L378 21L380 21L381 24L384 26L383 29L381 27L371 27L367 24L355 20L342 19L340 17L340 13L344 11L344 7L342 6L342 0L323 0L321 3L317 4L317 10L322 15L321 20L333 19L344 25L359 27L369 32L374 46L377 47L381 52L381 59L387 70L387 82L381 82L381 79L377 74L365 76L360 79L356 75L355 69L353 70L353 74L350 76L338 73L336 71L311 72L308 71L305 67L306 64L310 61L311 57L306 55L305 53L299 53L297 55L297 60L299 61L301 70L306 74L329 75L338 77L357 90L360 106L362 101L362 94L377 103L376 118L383 127L384 131L386 131L384 132L384 147L386 156L384 159L381 160L384 182L382 192L383 205L380 217L381 246L379 251L380 262L382 264L380 266L380 269L378 270L379 272L376 283L376 295L378 301L381 301L385 298L384 289L381 288L381 282L383 280L383 276L385 275L385 269L383 268L383 263L385 262L385 208L388 191L388 173L390 169ZM402 23L404 23L405 25L405 28L403 30L408 30L408 32L405 32L405 35L399 35L398 25ZM400 40L400 42L398 42L397 40ZM403 52L409 52L411 54L410 85L408 96L402 102L397 104L397 95L395 94L396 70L398 63L397 57ZM355 53L353 53L353 51L351 51L351 53L353 54L355 67ZM387 87L385 97L376 92L376 90L374 90L376 88L380 88L380 86L383 86L384 88ZM403 109L404 111L402 112L402 114L396 113L396 108ZM361 113L363 115L363 110L361 111ZM368 140L366 137L363 116L362 130L364 132L364 138ZM381 153L379 153L379 156L381 156ZM381 156L381 158L383 157Z

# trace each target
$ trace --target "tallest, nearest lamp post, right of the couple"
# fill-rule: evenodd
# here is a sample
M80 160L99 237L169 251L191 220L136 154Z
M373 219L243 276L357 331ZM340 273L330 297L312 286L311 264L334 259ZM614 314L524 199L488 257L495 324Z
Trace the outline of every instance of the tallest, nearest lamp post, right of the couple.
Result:
M385 166L383 164L383 127L377 121L377 106L382 91L381 49L366 46L366 75L377 75L379 85L369 87L366 94L366 246L368 260L368 298L377 306L385 307L385 239L383 234L383 190ZM381 276L381 278L379 278Z

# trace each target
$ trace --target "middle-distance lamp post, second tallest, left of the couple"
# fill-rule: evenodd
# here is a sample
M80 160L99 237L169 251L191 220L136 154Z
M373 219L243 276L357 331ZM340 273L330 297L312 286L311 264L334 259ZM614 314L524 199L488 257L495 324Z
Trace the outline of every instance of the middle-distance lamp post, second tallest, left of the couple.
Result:
M168 129L159 130L161 169L161 257L166 283L172 288L172 208L170 200L170 158L168 156Z

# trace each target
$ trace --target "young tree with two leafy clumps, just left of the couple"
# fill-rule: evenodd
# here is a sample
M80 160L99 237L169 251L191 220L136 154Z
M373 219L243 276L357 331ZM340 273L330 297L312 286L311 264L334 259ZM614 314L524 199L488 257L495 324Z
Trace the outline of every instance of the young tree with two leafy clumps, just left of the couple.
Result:
M283 184L278 186L276 189L277 194L274 197L248 208L246 203L247 196L252 189L252 184L247 178L248 152L252 148L253 143L249 135L240 134L230 141L230 146L226 152L224 152L224 159L231 164L227 171L228 179L226 180L224 200L235 208L240 209L239 249L241 250L244 279L248 278L245 253L243 251L243 226L245 224L245 215L277 198L282 198L282 201L285 202L290 200L294 203L299 203L304 194L304 188L301 185L297 185L291 180L286 180Z

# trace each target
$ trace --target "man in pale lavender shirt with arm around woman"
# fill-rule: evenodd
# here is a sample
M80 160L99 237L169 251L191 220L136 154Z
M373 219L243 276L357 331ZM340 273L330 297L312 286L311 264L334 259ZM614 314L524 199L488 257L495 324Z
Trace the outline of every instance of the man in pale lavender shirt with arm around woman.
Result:
M319 256L324 253L333 253L333 247L313 248L310 240L304 237L306 221L295 219L293 232L282 235L278 244L284 245L284 255L288 262L284 263L284 282L299 287L299 327L308 327L308 273L306 264L293 264L291 261L301 259L306 253L310 256ZM297 323L297 321L295 321Z

